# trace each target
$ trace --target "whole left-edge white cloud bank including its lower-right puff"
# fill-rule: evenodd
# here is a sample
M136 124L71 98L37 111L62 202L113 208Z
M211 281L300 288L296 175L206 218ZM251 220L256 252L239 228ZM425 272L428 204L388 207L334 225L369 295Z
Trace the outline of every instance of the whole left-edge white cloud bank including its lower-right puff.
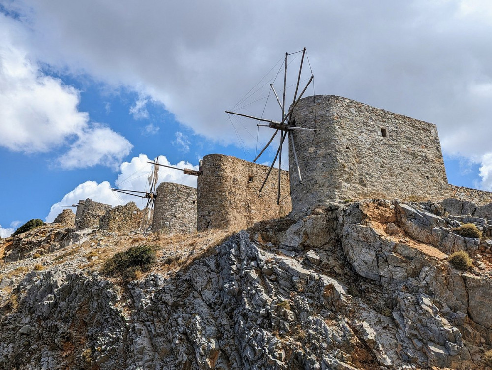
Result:
M131 144L80 112L79 91L43 74L22 44L16 21L0 13L0 146L13 151L48 152L69 146L63 168L115 166Z

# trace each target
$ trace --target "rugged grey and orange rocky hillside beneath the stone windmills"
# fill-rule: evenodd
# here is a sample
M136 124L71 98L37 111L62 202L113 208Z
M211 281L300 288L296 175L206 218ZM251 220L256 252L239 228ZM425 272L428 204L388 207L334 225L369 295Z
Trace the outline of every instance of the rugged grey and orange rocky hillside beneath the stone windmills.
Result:
M40 227L0 244L0 368L485 369L491 219L456 199L364 200L232 235ZM101 274L140 244L152 271Z

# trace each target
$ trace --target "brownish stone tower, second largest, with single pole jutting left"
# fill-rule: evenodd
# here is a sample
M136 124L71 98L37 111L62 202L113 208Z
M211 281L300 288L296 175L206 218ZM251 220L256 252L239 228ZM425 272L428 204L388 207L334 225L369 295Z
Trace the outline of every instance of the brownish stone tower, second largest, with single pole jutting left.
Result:
M268 167L221 154L206 155L198 176L198 230L247 228L255 222L279 218L291 209L289 173L273 170L261 193Z

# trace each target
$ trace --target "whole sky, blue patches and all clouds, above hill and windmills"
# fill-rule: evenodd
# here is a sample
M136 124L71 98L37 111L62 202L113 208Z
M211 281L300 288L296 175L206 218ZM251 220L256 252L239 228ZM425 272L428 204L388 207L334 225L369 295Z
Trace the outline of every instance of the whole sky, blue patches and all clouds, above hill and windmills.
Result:
M149 158L251 160L268 129L223 111L246 94L236 109L260 115L278 62L303 47L307 95L437 124L449 182L491 190L491 38L481 0L0 0L0 236L80 199L134 200L110 188L141 190Z

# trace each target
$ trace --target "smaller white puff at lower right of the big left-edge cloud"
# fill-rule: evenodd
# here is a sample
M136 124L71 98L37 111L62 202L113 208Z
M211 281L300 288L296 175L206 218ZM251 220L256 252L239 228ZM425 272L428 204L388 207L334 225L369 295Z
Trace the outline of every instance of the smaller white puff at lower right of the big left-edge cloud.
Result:
M123 157L130 154L132 145L109 127L94 125L79 134L70 150L59 158L62 168L92 167L102 164L117 168Z

